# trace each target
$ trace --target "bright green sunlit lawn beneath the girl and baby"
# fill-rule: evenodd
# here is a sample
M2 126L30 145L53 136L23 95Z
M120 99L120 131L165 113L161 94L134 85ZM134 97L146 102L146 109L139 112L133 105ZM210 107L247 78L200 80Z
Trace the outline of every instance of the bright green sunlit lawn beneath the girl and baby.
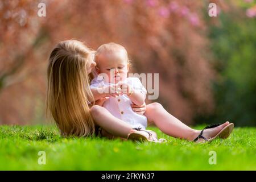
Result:
M203 126L197 127L197 129ZM1 170L255 170L255 127L236 127L225 140L196 144L156 131L167 143L62 138L53 126L0 126ZM38 152L46 164L38 164ZM209 152L217 164L210 165Z

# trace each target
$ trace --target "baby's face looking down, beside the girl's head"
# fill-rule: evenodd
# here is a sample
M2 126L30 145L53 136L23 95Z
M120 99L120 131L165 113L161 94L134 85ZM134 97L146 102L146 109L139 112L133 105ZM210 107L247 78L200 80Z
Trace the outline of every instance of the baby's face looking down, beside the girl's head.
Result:
M129 64L126 56L121 52L104 53L98 57L98 73L105 73L104 81L117 84L127 78Z

